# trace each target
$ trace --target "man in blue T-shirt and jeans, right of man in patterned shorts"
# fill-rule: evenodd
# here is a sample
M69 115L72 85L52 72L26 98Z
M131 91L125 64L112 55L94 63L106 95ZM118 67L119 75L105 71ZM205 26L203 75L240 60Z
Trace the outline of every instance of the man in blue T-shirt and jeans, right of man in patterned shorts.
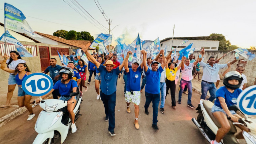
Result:
M161 64L161 67L158 68L158 62L153 61L151 64L151 69L148 68L147 63L146 63L146 56L147 52L145 50L142 50L141 53L143 54L143 66L145 69L145 73L147 76L147 82L146 82L146 87L145 87L145 96L146 96L146 103L145 103L145 113L148 115L149 111L149 104L152 101L152 106L153 106L153 124L152 127L155 130L158 130L157 127L157 115L158 115L158 105L160 101L160 77L161 73L166 65L166 60L165 57L163 57L163 63ZM164 50L160 50L160 53L164 56ZM145 57L144 57L145 55Z

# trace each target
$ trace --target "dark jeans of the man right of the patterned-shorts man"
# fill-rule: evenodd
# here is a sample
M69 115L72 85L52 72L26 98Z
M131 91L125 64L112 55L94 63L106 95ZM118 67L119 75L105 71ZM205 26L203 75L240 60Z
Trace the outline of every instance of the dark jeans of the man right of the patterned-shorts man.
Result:
M152 107L153 107L153 124L157 124L157 115L158 115L158 105L160 101L160 94L150 94L145 92L146 96L146 103L144 105L145 109L149 108L149 104L152 101Z

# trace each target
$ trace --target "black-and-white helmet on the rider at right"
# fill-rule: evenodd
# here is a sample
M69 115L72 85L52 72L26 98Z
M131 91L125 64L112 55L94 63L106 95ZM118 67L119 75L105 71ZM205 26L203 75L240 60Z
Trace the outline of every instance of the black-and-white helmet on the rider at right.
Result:
M228 80L231 80L231 79L236 79L236 80L239 81L239 83L237 85L229 84ZM243 77L241 76L241 74L239 72L237 72L237 71L230 71L230 72L225 74L225 76L223 78L223 84L227 88L237 89L237 88L239 88L241 86L242 80L244 80L244 79L243 79Z

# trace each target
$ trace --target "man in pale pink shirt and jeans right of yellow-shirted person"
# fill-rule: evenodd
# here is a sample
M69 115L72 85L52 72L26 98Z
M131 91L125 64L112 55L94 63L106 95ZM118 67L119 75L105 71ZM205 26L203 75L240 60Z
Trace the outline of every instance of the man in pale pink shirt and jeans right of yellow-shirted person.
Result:
M190 63L189 59L186 59L186 57L182 57L181 60L181 72L182 72L182 76L181 76L181 89L179 92L179 100L178 100L178 104L181 104L181 96L182 93L184 91L184 87L187 86L188 88L188 102L187 105L190 108L194 108L194 106L191 104L191 97L192 97L192 83L191 80L193 79L193 67L198 63L198 59L196 59L195 62ZM185 64L184 64L185 61Z

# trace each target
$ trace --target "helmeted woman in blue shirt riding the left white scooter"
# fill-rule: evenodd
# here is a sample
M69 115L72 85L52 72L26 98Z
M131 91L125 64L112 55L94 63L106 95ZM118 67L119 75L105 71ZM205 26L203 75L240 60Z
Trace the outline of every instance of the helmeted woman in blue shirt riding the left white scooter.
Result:
M76 93L77 88L77 82L72 79L73 70L71 68L61 68L59 72L60 76L62 77L61 80L57 81L55 85L53 86L52 90L36 99L36 102L39 103L42 98L50 95L55 89L59 90L59 93L61 95L60 100L67 101L68 105L68 112L69 117L72 121L71 124L71 132L74 133L76 131L75 127L75 113L73 112L75 104L76 104L76 96L69 97L70 93Z

